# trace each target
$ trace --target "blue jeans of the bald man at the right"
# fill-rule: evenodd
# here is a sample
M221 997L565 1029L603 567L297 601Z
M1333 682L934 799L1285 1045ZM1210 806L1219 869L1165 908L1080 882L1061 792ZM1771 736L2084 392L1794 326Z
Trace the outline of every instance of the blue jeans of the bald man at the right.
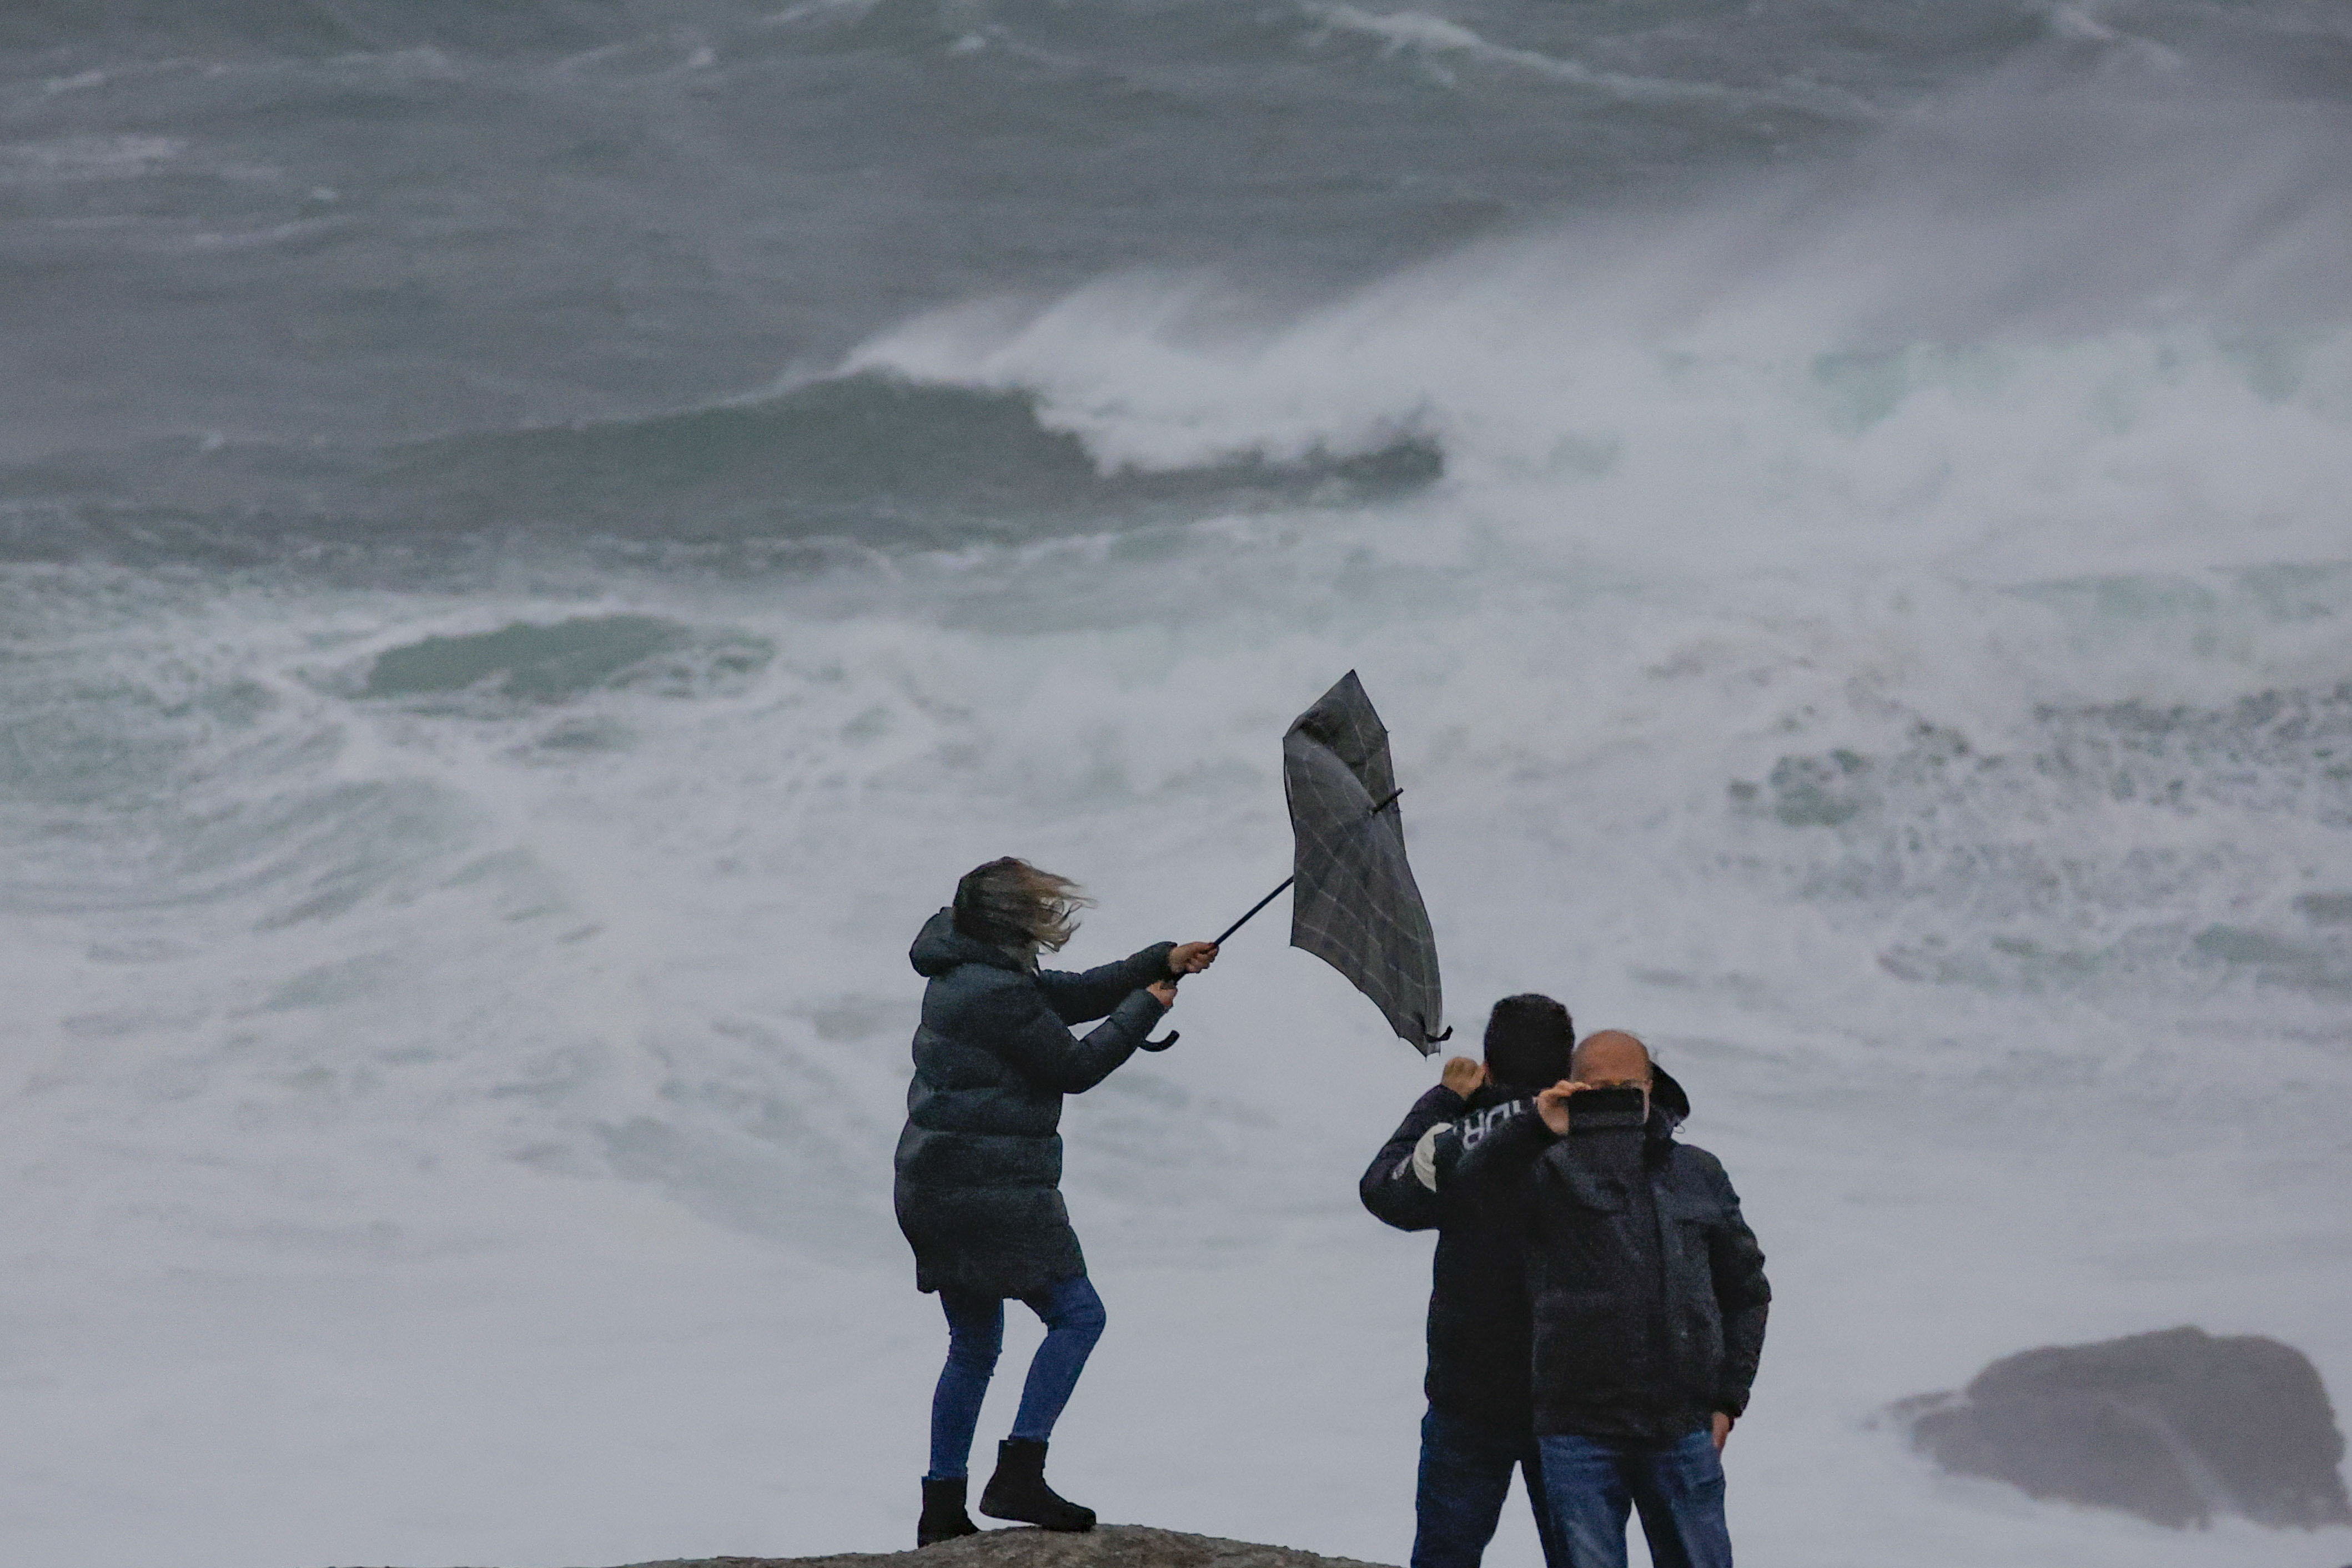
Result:
M1552 1526L1566 1547L1562 1568L1625 1568L1628 1507L1642 1512L1658 1568L1731 1568L1724 1462L1710 1434L1663 1448L1545 1436L1538 1448Z

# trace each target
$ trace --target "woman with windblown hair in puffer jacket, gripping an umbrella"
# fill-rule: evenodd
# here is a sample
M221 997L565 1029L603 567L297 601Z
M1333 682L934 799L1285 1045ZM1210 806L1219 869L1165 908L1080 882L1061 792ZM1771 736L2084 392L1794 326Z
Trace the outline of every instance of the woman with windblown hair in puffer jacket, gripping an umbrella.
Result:
M915 1288L948 1312L948 1366L931 1396L931 1469L915 1544L971 1535L964 1512L981 1396L1004 1347L1004 1302L1044 1326L1011 1436L981 1512L1049 1530L1091 1530L1094 1509L1044 1483L1054 1420L1103 1335L1103 1302L1061 1201L1061 1098L1101 1084L1176 1004L1176 980L1216 959L1214 943L1155 943L1084 973L1037 966L1077 931L1077 884L1028 860L964 875L955 903L908 959L929 980L915 1030L915 1081L898 1135L898 1229ZM1101 1018L1087 1037L1070 1025Z

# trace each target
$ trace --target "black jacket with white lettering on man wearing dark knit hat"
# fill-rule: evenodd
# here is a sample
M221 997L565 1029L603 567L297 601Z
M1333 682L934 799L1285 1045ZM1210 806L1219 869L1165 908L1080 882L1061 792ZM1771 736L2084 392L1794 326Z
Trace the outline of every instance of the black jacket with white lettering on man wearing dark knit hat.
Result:
M1682 1084L1658 1072L1656 1098L1672 1119L1691 1114ZM1526 1220L1505 1194L1472 1201L1454 1173L1465 1152L1517 1117L1534 1117L1522 1088L1482 1084L1463 1098L1439 1084L1421 1095L1364 1168L1357 1192L1397 1229L1435 1229L1430 1262L1430 1406L1458 1420L1524 1432L1534 1418L1526 1302Z

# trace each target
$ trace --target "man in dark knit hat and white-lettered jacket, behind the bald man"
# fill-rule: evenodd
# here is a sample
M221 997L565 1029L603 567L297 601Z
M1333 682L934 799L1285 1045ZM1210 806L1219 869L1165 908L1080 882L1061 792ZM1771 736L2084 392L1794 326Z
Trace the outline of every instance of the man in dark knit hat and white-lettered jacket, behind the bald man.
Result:
M1414 1103L1357 1185L1364 1208L1388 1225L1437 1232L1411 1568L1477 1568L1512 1469L1526 1479L1545 1561L1564 1561L1543 1507L1531 1425L1522 1237L1496 1204L1454 1201L1449 1175L1465 1147L1534 1114L1534 1091L1566 1077L1571 1039L1569 1009L1550 997L1496 1001L1484 1065L1465 1056L1446 1063L1444 1081Z

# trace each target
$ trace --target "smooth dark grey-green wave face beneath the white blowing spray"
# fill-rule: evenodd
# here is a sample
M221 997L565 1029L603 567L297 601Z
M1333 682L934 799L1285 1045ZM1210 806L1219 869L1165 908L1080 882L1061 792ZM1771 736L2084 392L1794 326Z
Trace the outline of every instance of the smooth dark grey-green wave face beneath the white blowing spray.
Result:
M1409 428L1376 442L1103 463L1025 390L882 374L776 397L381 451L155 444L125 463L0 470L14 559L301 562L466 541L823 545L1025 541L1232 508L1359 505L1444 468Z

